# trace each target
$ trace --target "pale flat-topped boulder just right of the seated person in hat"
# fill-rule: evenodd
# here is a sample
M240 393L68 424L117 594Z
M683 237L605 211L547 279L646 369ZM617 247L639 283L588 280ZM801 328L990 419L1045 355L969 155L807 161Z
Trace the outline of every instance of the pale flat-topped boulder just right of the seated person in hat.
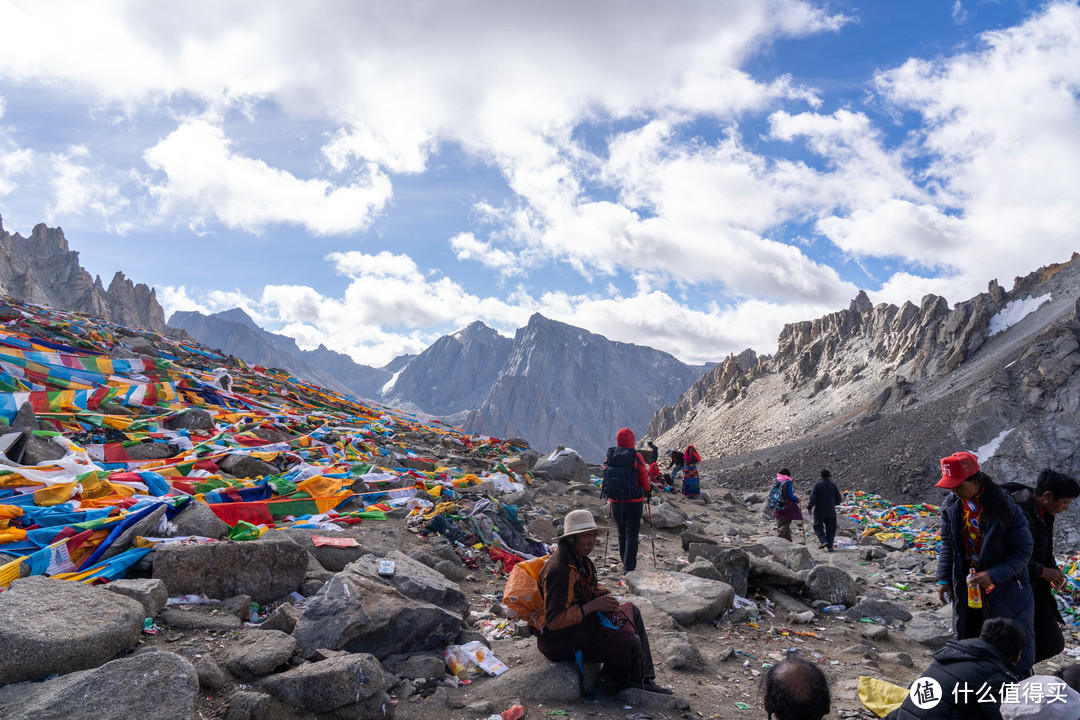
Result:
M672 616L680 625L718 617L731 607L735 592L727 583L683 572L634 570L626 586Z

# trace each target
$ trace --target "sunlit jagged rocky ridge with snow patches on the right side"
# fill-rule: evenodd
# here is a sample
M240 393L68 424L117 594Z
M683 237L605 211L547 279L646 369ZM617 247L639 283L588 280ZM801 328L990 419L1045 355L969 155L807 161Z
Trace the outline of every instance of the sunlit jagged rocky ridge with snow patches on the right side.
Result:
M869 303L787 325L777 352L729 357L652 419L661 447L693 443L721 483L829 466L847 487L926 498L937 461L975 451L999 480L1080 472L1080 259L950 305ZM841 480L841 487L843 483Z

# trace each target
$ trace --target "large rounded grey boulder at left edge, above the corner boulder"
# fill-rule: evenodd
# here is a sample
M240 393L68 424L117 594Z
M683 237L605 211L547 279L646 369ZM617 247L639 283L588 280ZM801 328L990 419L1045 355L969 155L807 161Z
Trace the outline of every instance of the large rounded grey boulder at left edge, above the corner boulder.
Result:
M135 647L145 617L137 600L118 593L42 575L16 580L0 594L0 684L97 667Z

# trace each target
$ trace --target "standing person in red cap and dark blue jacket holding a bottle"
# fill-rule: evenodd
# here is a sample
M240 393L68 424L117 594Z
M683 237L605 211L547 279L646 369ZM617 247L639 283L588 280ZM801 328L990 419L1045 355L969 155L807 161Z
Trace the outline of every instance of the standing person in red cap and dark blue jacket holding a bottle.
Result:
M1024 513L978 468L970 452L942 458L942 548L937 596L951 595L957 637L977 638L989 617L1010 617L1028 642L1016 669L1027 677L1035 663L1035 598L1027 563L1035 543Z

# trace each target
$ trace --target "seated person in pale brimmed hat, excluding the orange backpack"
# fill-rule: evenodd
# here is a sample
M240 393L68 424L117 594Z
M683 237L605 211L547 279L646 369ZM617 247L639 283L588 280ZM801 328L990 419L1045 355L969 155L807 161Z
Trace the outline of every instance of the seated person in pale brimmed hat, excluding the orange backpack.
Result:
M552 662L603 663L596 690L604 694L636 688L671 695L656 682L640 611L632 602L620 603L596 580L589 555L602 531L607 532L588 510L566 514L558 547L540 571L544 622L537 649Z

